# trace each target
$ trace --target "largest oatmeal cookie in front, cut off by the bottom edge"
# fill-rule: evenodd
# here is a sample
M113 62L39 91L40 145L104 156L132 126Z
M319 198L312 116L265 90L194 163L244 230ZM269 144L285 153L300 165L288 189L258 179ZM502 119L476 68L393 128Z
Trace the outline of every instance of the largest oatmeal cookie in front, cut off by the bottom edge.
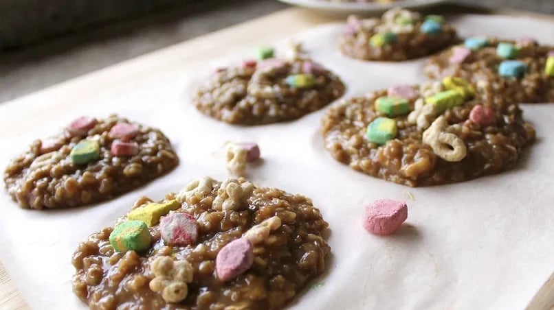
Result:
M259 188L243 178L223 183L202 178L159 203L175 201L177 208L158 213L144 228L150 236L146 243L110 240L117 240L115 230L122 224L136 226L137 210L152 204L148 198L140 198L115 230L104 228L80 243L72 263L74 292L81 300L93 309L282 309L325 270L330 248L322 233L328 224L309 198ZM166 225L166 218L179 216L196 224L183 230ZM168 245L168 228L175 237L195 225L198 233L188 244ZM146 246L117 252L113 244ZM248 244L252 247L245 248ZM237 249L251 251L240 270L218 265L229 258L225 254L241 254ZM164 290L170 285L178 289Z

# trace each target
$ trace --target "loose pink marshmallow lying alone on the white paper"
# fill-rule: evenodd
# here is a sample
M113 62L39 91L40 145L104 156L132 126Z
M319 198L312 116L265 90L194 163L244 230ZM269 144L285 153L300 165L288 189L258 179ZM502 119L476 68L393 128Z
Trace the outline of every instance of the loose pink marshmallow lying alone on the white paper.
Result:
M391 235L407 218L406 202L381 199L366 206L362 224L375 235Z

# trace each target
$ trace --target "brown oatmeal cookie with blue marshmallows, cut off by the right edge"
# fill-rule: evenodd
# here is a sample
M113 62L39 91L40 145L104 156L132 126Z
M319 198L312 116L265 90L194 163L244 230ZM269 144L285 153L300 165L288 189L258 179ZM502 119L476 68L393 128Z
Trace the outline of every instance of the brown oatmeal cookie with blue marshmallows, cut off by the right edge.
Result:
M425 73L437 79L454 75L470 80L480 88L484 100L489 102L540 103L554 102L554 76L545 73L546 59L554 47L538 45L531 38L501 40L482 39L482 47L456 45L436 56L425 65ZM466 41L467 42L467 41ZM498 54L498 45L513 48L513 55ZM465 54L464 54L465 53ZM456 55L454 55L456 54ZM464 57L465 56L465 57ZM519 77L499 75L499 67L505 61L518 61L527 67Z

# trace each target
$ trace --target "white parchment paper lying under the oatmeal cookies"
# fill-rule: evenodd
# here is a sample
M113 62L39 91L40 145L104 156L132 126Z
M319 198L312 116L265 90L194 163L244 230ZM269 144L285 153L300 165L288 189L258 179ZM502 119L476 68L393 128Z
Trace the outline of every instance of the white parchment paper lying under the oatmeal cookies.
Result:
M463 36L532 34L554 43L554 25L506 16L454 19ZM399 64L360 62L335 49L340 25L299 34L310 55L340 75L346 96L423 79L423 60ZM284 46L282 43L280 46ZM329 272L306 289L291 309L522 309L554 270L552 150L554 105L524 106L538 141L505 174L440 187L409 188L352 171L322 145L324 110L298 121L243 128L204 117L190 104L198 72L253 54L246 50L190 71L145 73L109 89L91 89L74 106L27 128L1 136L0 163L38 137L54 133L78 115L111 112L161 128L181 164L168 176L111 202L61 211L22 210L0 192L0 259L33 309L85 309L71 291L71 254L80 241L123 215L134 200L155 200L201 176L227 177L223 143L257 141L263 164L249 170L258 185L313 199L331 226ZM45 110L47 105L44 105ZM7 114L8 112L9 114ZM18 112L14 112L18 111ZM25 103L0 106L0 119L21 119ZM21 132L21 130L19 130ZM10 147L5 147L10 145ZM410 199L410 195L414 200ZM408 202L408 221L396 235L365 232L365 203L391 198Z

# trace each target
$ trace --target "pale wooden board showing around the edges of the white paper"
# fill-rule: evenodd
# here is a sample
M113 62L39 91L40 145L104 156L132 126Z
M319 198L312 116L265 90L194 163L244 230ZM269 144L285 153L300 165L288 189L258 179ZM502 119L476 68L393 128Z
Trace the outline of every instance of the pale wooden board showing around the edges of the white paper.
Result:
M476 10L457 5L443 5L434 8L432 11L435 13L491 13L491 11ZM554 20L553 16L509 10L495 10L492 13L535 16L540 19ZM98 88L118 87L122 83L132 82L134 79L140 78L145 73L164 71L167 68L192 68L203 61L223 56L225 53L230 53L236 49L271 43L274 40L301 32L314 25L343 20L339 16L333 17L300 8L290 8L122 62L107 69L83 75L80 78L0 105L0 123L2 123L0 136L21 134L25 130L26 123L40 123L41 118L44 117L44 113L47 110L55 111L57 108L78 110L78 104L71 101L71 93L86 93ZM25 115L25 120L8 117L8 115L14 115L12 114L14 106L19 104L26 104L28 106L27 111L29 113ZM547 277L548 275L545 275L545 279ZM551 290L552 287L549 291ZM550 296L551 294L548 294L549 291L546 291L546 294L542 291L542 296ZM67 294L71 294L71 292L68 291ZM0 309L30 309L21 294L19 294L19 291L10 281L10 277L1 263ZM532 309L542 310L539 307L533 307Z

